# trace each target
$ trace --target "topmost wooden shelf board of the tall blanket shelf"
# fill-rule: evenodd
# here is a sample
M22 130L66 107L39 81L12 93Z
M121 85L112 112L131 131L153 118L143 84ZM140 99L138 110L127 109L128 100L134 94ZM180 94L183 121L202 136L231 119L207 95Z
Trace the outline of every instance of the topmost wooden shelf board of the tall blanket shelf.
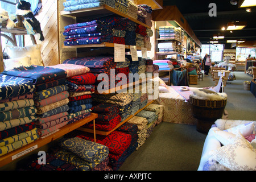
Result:
M110 7L108 5L102 5L100 7L93 7L88 9L82 9L82 10L76 10L76 11L60 11L60 15L70 15L75 17L82 17L83 19L96 19L100 18L102 16L107 15L113 15L117 14L119 16L123 16L124 18L129 18L135 23L141 24L144 27L151 28L150 26L147 26L147 24L140 22L137 19L134 19L133 17L126 15L122 13L121 11L118 11L114 9L113 7Z

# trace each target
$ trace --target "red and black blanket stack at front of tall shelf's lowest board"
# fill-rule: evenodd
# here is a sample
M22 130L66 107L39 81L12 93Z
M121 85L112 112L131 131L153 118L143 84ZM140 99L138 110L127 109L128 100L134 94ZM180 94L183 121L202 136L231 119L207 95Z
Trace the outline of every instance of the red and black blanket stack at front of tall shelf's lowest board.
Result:
M98 118L95 119L96 130L110 131L121 122L121 115L117 105L98 104L92 107L92 112L98 114ZM82 127L93 129L93 123L87 123Z

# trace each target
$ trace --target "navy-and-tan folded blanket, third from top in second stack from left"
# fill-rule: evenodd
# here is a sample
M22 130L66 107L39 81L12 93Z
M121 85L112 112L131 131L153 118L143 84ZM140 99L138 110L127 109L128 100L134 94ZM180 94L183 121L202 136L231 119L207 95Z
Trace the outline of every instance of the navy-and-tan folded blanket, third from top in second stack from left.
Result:
M58 93L64 92L68 90L67 85L58 85L52 88L48 88L46 90L42 90L40 92L35 92L34 94L34 100L43 100L48 97L54 96Z

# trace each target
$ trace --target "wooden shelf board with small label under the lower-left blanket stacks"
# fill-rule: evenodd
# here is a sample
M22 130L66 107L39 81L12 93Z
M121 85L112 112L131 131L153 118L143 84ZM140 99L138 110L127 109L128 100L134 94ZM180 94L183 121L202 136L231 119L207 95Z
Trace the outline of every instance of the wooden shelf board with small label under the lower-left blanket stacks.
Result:
M5 154L5 155L1 156L0 157L0 167L5 166L6 164L12 162L13 161L12 157L14 155L17 155L20 152L24 152L27 149L32 148L34 146L35 146L34 150L36 148L40 148L40 147L46 145L47 143L50 143L53 140L56 140L57 138L60 138L63 135L65 135L65 134L67 134L67 133L69 133L69 132L71 132L73 130L76 130L77 128L81 127L82 125L85 125L86 123L88 123L90 121L93 121L97 117L98 117L98 114L91 113L90 116L87 117L87 118L84 118L84 119L81 119L81 120L76 121L74 123L71 123L70 125L63 126L63 127L61 127L59 129L59 131L58 130L57 131L53 131L52 134L51 133L48 134L47 137L46 136L40 137L38 140L35 140L34 142L32 142L30 144L27 144L24 147L18 148L18 149L14 150L14 151L12 151L12 152L10 152L8 154ZM20 155L20 156L23 156L23 155ZM16 159L18 159L18 158L16 158Z

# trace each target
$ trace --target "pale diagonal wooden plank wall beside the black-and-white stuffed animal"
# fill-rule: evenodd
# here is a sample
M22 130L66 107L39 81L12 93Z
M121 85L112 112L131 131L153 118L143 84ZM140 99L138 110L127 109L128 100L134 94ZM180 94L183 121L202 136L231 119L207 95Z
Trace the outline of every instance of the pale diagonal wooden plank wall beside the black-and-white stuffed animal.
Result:
M45 66L59 64L58 46L58 21L57 21L57 0L43 0L43 7L36 15L36 19L41 23L44 40L39 40L40 35L36 34L35 39L38 44L42 44L42 59ZM29 35L24 36L25 46L32 45Z

